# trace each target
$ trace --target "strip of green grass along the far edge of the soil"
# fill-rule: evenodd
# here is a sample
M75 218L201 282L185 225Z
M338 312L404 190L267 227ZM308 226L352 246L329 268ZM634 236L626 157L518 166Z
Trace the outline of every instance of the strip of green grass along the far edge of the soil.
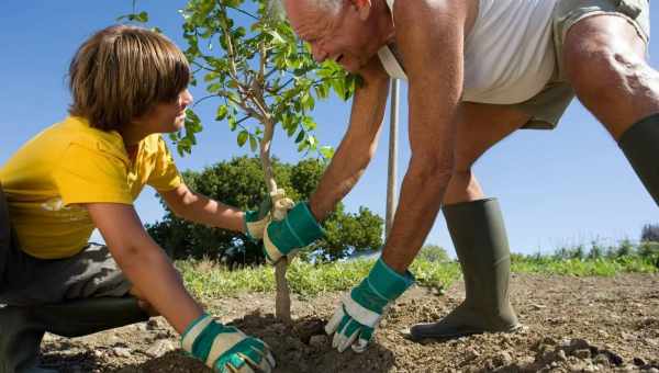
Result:
M659 251L647 247L623 250L562 249L550 256L513 255L514 273L599 275L618 273L656 273L659 271ZM269 265L228 271L211 260L181 260L176 262L187 287L200 298L233 296L242 292L275 291L275 270ZM342 261L312 264L297 260L289 268L291 291L301 296L316 296L325 292L346 291L369 272L373 260ZM416 283L438 290L460 279L460 267L455 261L417 259L411 268Z

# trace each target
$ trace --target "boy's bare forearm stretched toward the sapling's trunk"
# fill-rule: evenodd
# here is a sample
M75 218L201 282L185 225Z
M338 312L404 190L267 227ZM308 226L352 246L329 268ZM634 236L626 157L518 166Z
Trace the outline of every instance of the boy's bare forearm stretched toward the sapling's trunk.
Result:
M191 191L186 184L159 194L178 217L211 227L245 231L243 211Z

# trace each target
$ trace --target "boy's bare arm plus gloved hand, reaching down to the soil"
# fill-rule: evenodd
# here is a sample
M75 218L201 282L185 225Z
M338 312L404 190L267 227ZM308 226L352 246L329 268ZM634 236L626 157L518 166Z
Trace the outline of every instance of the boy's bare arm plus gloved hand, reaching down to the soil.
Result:
M270 372L275 358L270 348L222 325L188 294L165 251L148 236L131 205L86 204L103 235L112 257L133 282L137 293L165 316L181 335L181 347L215 372Z

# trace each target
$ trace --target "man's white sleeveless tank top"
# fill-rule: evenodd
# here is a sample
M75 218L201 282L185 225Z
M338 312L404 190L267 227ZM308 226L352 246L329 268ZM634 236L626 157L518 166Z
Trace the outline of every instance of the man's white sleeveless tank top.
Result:
M556 1L479 0L478 18L465 43L463 101L513 104L543 90L556 67ZM390 9L393 2L387 0ZM378 55L391 77L407 78L388 46Z

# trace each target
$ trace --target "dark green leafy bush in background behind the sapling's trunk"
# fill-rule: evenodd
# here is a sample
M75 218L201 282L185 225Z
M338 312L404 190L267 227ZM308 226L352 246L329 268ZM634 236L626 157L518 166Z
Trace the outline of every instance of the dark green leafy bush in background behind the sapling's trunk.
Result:
M324 166L315 159L292 166L272 160L279 185L295 200L306 200L314 191ZM264 172L256 158L239 157L206 167L201 172L183 172L186 183L193 190L241 208L256 208L257 195L266 188ZM176 217L166 210L163 221L147 225L147 230L172 258L209 257L224 259L230 267L258 264L265 261L260 245L243 234L209 228ZM346 213L343 205L325 222L326 237L305 250L306 258L335 260L357 251L375 250L382 245L382 218L366 207Z

